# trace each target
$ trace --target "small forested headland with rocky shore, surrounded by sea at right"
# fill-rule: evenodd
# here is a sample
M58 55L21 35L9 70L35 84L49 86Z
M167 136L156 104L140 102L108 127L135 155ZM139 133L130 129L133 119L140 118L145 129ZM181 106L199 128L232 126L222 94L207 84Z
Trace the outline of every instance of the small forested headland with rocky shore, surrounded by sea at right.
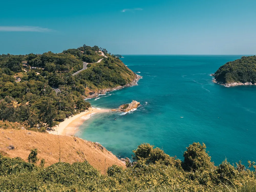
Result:
M228 86L256 83L256 56L241 57L227 62L214 74L215 81Z

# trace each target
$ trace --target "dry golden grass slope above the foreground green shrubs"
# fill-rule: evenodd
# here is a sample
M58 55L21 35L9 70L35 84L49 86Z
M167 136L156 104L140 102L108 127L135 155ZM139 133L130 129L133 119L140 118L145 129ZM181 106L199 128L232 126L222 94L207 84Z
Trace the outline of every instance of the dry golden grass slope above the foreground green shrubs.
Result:
M125 167L115 155L107 151L99 144L85 141L73 136L52 135L48 133L33 132L28 130L0 129L0 153L8 154L9 157L21 157L27 159L30 150L38 148L38 158L44 158L46 166L59 161L74 163L87 160L94 168L104 173L112 165ZM6 147L14 145L14 150ZM105 166L106 159L106 166ZM39 164L38 162L38 164Z

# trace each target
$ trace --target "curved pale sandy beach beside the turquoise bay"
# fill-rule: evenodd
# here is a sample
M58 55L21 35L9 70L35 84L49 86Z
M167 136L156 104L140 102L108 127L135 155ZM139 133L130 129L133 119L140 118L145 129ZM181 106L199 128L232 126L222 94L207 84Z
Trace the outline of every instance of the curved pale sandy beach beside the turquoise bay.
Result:
M95 113L106 113L109 111L109 109L89 108L89 110L67 118L59 125L52 127L54 130L49 131L49 133L55 135L74 135L78 131L79 126L92 115Z

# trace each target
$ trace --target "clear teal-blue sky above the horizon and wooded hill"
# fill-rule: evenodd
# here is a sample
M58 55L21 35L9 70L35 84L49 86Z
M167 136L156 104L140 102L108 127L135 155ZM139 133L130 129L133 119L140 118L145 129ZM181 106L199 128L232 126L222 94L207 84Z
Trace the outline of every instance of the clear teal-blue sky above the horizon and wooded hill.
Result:
M0 54L256 54L256 1L4 1Z

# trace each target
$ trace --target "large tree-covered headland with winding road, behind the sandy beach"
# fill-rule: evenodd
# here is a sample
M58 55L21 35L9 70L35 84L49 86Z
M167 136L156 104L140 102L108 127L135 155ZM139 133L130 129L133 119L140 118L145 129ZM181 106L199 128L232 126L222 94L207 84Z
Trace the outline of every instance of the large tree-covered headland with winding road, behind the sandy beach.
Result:
M102 52L105 54L104 57ZM98 60L103 59L99 63ZM77 75L74 72L87 69ZM45 131L84 111L102 89L131 83L136 74L106 49L83 45L62 53L0 55L0 120ZM60 92L56 94L53 88ZM40 129L39 129L40 128Z

